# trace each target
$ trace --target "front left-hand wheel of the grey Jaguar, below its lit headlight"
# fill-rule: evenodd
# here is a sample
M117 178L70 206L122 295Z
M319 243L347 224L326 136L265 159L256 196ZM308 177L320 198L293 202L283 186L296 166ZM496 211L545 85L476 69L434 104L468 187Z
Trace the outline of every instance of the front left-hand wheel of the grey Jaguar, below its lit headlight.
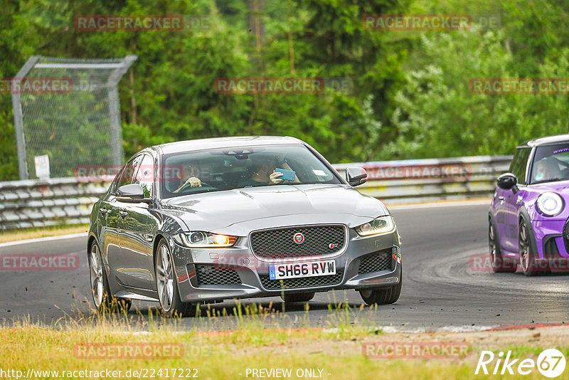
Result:
M165 317L188 317L195 314L196 305L181 300L170 248L164 238L159 241L158 248L156 248L155 268L156 275L154 277L156 278L156 289L158 290L162 315Z

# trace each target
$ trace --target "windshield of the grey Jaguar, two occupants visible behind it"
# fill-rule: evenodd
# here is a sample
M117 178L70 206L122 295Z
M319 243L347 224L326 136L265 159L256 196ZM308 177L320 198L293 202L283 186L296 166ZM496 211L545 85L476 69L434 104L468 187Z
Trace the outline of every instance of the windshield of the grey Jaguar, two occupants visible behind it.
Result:
M162 170L162 198L277 184L341 183L304 145L181 152L164 156Z

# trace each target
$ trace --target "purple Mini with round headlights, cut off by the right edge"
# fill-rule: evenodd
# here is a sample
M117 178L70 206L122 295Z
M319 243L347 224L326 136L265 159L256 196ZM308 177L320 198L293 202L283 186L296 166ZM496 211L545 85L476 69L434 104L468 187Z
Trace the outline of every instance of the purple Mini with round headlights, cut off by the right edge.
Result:
M489 211L494 272L525 275L569 268L569 134L533 139L516 149L498 177Z

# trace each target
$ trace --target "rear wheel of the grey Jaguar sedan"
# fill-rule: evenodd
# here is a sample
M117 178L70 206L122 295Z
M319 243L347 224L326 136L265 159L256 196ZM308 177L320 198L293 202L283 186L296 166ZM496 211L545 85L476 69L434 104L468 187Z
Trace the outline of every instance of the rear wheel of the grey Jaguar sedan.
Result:
M91 294L97 312L128 312L130 310L132 300L111 295L101 250L95 241L92 242L89 250L89 274Z

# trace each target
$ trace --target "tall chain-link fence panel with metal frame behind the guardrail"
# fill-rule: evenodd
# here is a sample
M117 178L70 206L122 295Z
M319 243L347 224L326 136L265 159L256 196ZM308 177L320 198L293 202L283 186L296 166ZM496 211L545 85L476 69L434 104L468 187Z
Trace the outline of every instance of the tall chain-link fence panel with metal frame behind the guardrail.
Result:
M35 178L44 154L53 178L122 163L117 84L136 59L33 56L23 65L11 86L20 179Z

